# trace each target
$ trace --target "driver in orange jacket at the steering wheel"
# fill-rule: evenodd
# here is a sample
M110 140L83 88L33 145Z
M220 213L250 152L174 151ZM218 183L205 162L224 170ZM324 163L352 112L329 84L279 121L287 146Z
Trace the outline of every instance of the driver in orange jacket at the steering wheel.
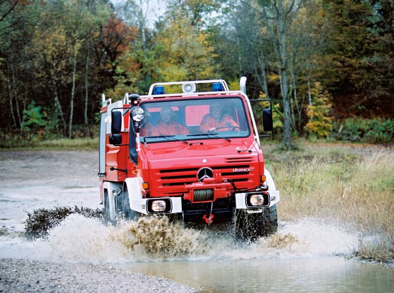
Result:
M214 102L209 107L209 113L206 114L201 120L200 131L228 131L234 130L234 127L238 128L239 126L229 115L223 113L220 103Z

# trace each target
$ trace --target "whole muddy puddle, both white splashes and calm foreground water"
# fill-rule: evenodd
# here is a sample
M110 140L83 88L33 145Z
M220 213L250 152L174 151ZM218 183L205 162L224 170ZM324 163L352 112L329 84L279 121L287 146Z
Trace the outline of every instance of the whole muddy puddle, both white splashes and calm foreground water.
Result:
M345 260L357 246L355 234L318 220L282 223L256 242L234 239L231 228L196 230L157 217L114 227L80 214L44 238L9 230L0 236L0 258L110 264L202 291L389 292L394 286L393 268Z

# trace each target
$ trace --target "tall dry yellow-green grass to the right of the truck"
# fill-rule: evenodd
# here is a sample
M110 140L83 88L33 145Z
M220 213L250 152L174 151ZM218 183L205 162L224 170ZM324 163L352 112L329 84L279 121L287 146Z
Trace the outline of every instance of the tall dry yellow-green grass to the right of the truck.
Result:
M394 151L377 147L300 143L297 150L265 151L277 188L280 220L328 219L356 228L355 255L394 262Z

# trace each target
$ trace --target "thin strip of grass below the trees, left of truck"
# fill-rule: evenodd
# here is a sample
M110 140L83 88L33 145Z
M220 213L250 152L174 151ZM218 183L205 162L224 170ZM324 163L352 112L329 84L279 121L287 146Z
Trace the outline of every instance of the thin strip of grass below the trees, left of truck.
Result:
M58 138L42 141L3 141L0 150L98 150L99 138Z

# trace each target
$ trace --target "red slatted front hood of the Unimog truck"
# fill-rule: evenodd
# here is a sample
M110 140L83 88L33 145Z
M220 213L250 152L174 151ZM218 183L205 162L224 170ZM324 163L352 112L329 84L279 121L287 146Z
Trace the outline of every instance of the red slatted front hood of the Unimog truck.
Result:
M192 144L192 145L190 145ZM150 196L179 196L185 185L198 182L202 167L236 181L238 188L260 184L263 156L257 142L244 138L192 140L189 144L177 141L151 143L142 146L142 156L148 164ZM260 152L261 154L261 152ZM145 179L146 180L146 179Z

